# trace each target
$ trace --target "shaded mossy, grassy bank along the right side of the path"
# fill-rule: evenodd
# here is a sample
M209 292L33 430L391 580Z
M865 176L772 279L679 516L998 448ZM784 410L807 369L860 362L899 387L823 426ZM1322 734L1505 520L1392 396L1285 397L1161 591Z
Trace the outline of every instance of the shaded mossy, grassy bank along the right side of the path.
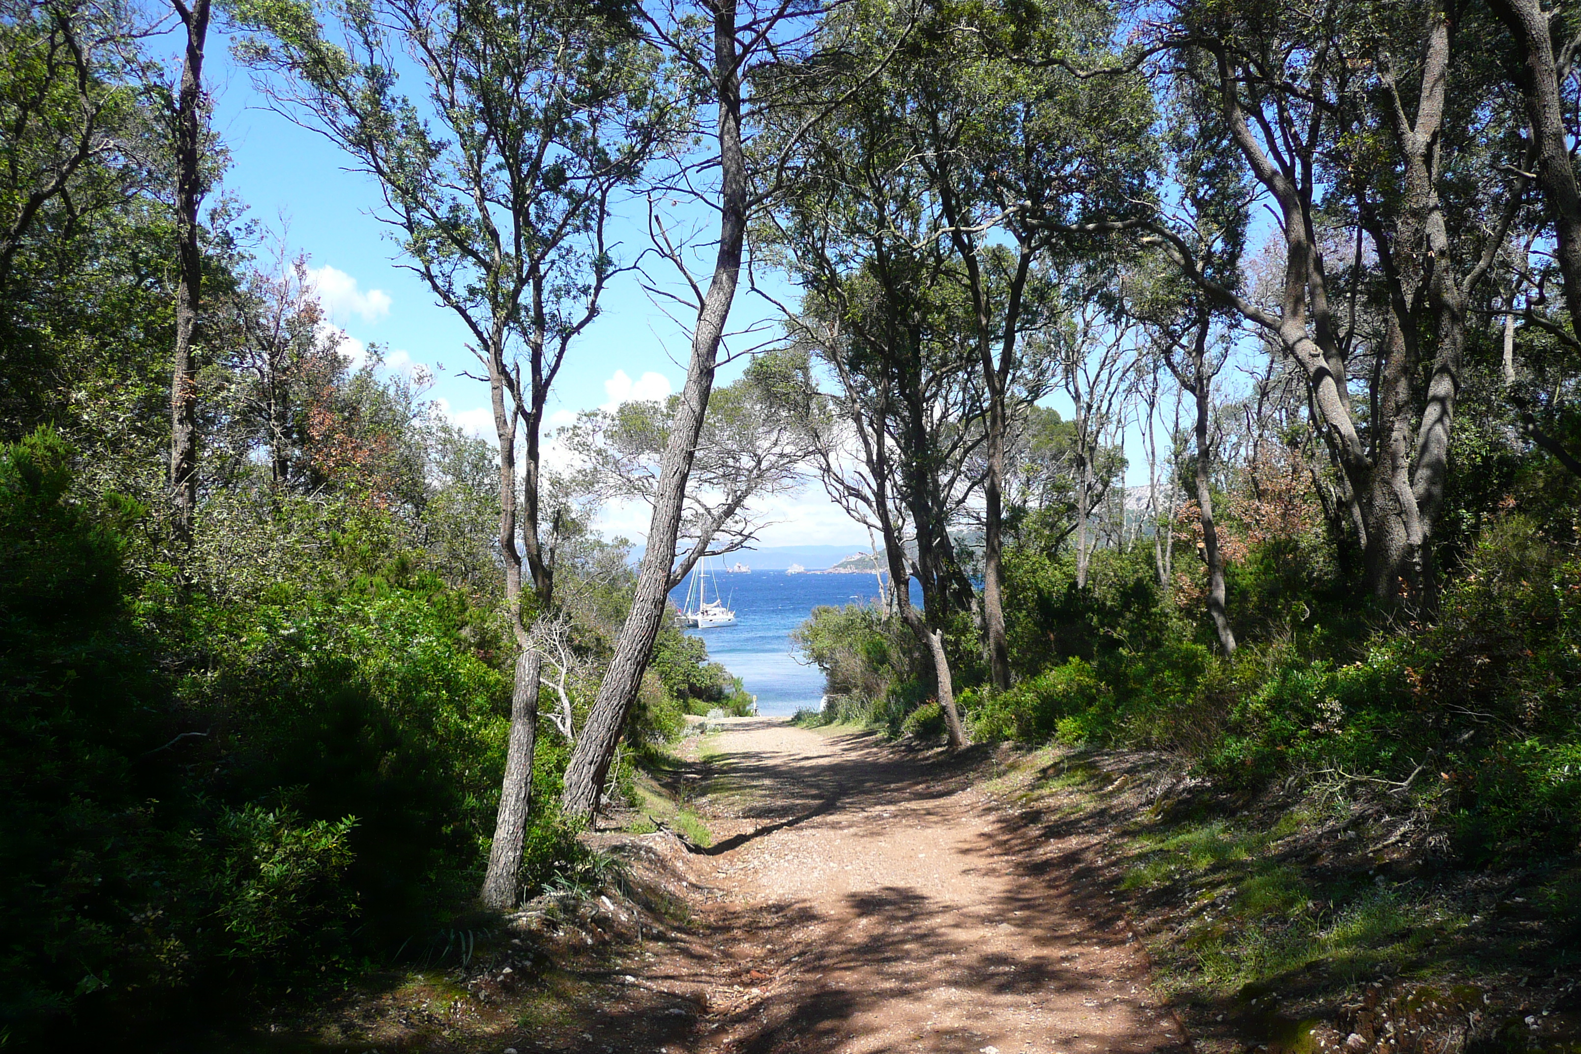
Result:
M1178 759L1001 752L1032 838L1100 833L1154 984L1202 1051L1573 1051L1576 860L1464 868L1398 796L1352 781L1224 800Z

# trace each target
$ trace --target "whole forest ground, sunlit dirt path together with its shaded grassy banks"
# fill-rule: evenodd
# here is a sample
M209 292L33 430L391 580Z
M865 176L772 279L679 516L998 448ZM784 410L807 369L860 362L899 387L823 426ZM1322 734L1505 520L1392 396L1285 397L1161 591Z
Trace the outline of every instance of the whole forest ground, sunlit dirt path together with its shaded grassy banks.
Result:
M281 1021L267 1049L1581 1054L1573 969L1534 969L1556 934L1519 875L1459 888L1475 915L1409 901L1409 877L1387 891L1366 847L1398 830L1387 815L1284 812L1257 841L1172 820L1194 781L1162 754L710 724L587 836L623 861L607 896L539 898L466 962ZM1377 883L1388 918L1292 931L1273 984L1222 975L1277 929L1225 905L1325 868Z

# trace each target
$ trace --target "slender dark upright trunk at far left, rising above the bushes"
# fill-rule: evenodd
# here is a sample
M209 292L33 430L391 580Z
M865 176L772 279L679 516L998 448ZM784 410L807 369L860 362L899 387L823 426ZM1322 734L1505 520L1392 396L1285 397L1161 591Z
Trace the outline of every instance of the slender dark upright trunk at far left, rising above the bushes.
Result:
M179 283L175 289L175 352L171 368L171 506L175 537L191 545L198 507L198 381L193 367L193 329L202 292L202 253L198 247L198 207L204 196L202 57L209 38L209 0L188 8L172 0L187 28L182 82L175 101L175 237Z

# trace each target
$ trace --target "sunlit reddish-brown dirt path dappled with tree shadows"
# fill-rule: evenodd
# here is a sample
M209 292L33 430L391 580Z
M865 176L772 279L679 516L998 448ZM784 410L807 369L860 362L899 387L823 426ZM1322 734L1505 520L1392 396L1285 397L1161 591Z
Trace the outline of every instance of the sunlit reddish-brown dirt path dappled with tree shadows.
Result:
M710 746L705 905L629 978L704 1008L667 1054L1183 1048L1091 839L1029 839L964 766L862 735L753 719Z

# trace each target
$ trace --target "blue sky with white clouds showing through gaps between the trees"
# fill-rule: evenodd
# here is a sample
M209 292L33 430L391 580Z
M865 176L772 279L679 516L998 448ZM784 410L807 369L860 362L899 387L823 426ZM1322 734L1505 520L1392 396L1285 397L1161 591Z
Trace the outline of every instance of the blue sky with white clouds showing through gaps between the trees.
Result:
M210 90L215 96L213 126L231 153L225 190L239 196L251 218L277 234L285 232L289 253L307 253L318 277L319 294L337 326L356 341L351 348L378 343L391 368L421 363L433 376L430 398L440 401L458 425L492 438L487 387L462 376L477 373L466 351L468 333L460 321L435 303L421 278L398 265L398 248L389 228L375 218L379 204L372 177L346 169L348 158L324 136L270 111L253 92L250 74L229 57L229 41L212 41ZM647 245L640 202L632 202L617 224L618 254L629 261ZM707 216L704 216L707 220ZM707 272L707 267L704 267ZM786 291L776 291L786 295ZM737 338L745 348L772 332L776 311L743 291L737 295L732 329L762 327L756 338ZM553 423L566 423L577 411L629 398L662 398L685 379L686 335L656 307L637 277L618 277L606 294L604 313L572 348L550 403ZM745 360L726 365L721 384L740 375ZM1069 414L1069 400L1051 400ZM1146 482L1140 444L1127 436L1132 466L1127 482ZM764 545L851 545L865 548L866 531L813 484L802 495L768 499L762 518L775 521ZM640 540L647 529L642 507L612 507L602 528Z

